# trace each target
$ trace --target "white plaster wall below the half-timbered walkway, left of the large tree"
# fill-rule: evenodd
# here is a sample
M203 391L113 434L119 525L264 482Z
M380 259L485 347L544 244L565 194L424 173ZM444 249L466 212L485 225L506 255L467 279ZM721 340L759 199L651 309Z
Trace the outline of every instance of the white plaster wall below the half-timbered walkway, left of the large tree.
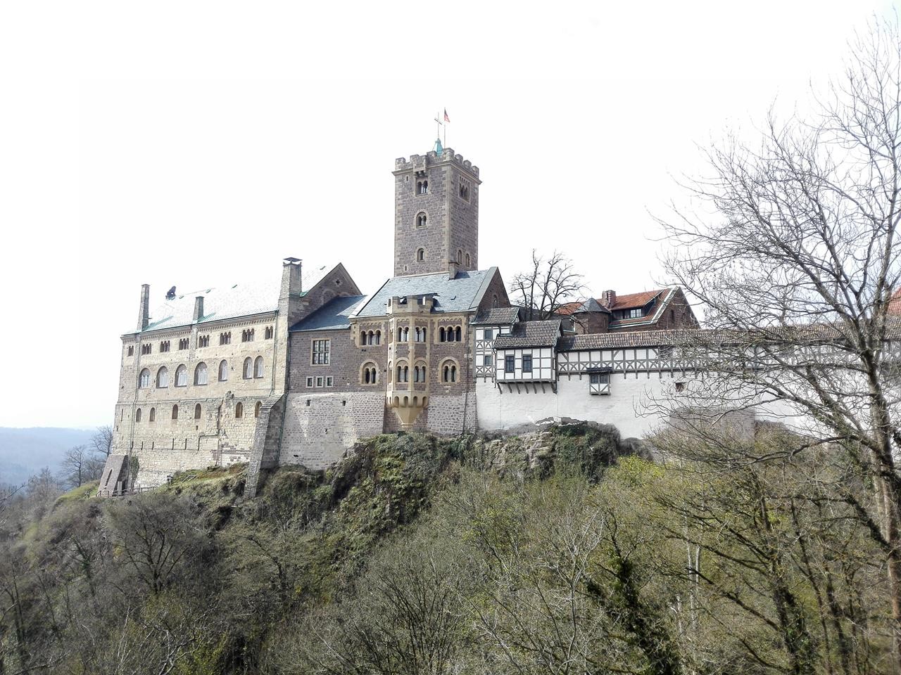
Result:
M647 410L649 396L661 396L671 391L674 382L680 381L669 373L611 374L610 394L588 393L588 375L562 376L557 383L557 393L546 384L520 384L520 392L509 392L506 384L498 390L488 380L476 383L478 426L481 429L506 429L521 424L534 423L550 417L568 417L613 424L623 437L642 437L656 428L662 419Z

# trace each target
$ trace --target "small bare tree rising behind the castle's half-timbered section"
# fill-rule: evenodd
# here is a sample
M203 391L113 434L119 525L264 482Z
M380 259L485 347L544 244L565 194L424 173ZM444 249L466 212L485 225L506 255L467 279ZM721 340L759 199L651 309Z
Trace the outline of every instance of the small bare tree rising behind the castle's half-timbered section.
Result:
M525 310L526 320L550 319L568 302L577 300L585 290L582 275L572 261L554 251L545 259L532 249L532 266L515 275L510 284L514 302Z

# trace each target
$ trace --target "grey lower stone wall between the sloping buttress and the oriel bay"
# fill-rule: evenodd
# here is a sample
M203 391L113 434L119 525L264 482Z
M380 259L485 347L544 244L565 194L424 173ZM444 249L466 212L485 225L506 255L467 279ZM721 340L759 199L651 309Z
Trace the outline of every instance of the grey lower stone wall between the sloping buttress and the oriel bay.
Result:
M290 392L278 464L323 469L360 438L382 433L382 392Z

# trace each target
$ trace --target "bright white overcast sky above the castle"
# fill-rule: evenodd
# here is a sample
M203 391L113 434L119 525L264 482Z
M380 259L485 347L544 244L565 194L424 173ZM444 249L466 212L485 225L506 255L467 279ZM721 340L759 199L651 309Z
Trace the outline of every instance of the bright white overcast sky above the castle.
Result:
M471 159L482 267L666 281L698 146L805 99L887 0L0 4L0 426L110 423L154 301L286 256L392 272L395 157Z

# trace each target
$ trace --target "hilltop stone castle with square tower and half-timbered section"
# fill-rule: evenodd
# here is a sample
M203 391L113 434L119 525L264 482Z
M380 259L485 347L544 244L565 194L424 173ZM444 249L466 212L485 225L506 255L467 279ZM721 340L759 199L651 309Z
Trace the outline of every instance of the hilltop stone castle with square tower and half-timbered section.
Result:
M178 294L122 336L114 450L102 491L249 463L323 468L362 437L459 434L551 417L639 437L651 390L679 385L669 329L696 328L682 291L571 303L521 320L496 267L478 266L478 166L436 143L399 158L394 275L360 292L341 264L287 257L254 284Z

